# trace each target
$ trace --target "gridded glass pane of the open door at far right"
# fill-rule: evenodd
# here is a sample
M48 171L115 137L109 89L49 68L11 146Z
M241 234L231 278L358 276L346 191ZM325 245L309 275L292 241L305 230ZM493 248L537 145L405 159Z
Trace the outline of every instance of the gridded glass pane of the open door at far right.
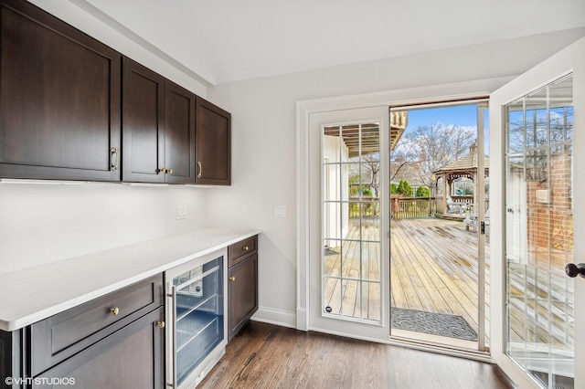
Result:
M572 388L572 77L506 106L506 352L544 387Z

